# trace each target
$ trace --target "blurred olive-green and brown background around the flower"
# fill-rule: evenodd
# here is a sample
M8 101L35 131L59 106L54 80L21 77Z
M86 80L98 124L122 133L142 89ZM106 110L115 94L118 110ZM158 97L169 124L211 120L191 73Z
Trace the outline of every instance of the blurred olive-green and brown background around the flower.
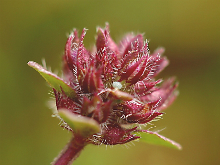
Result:
M46 59L61 68L67 34L109 22L111 36L145 33L150 49L166 48L170 65L160 77L175 75L180 95L152 130L182 144L182 151L135 142L87 146L76 165L220 164L219 39L217 0L1 0L0 1L0 164L50 164L71 134L51 117L51 91L29 60Z

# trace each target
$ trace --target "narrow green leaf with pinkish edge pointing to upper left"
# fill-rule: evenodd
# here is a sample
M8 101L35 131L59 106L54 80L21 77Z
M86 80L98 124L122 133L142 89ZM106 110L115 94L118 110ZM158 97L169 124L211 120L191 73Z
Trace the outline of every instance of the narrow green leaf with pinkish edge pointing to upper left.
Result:
M28 65L38 71L52 88L56 89L60 93L64 92L71 99L74 99L76 97L76 92L60 77L47 71L36 62L29 61Z

